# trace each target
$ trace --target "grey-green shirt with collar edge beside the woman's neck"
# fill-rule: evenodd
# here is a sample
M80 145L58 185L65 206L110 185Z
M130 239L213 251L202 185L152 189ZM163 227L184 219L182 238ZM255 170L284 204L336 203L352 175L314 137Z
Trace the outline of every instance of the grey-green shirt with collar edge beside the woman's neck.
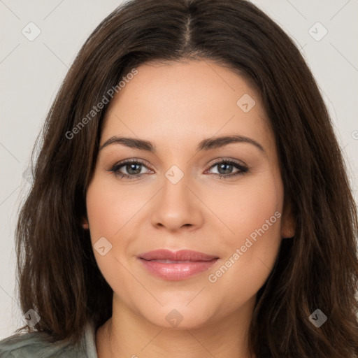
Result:
M17 334L0 341L0 358L98 358L94 327L87 324L78 345L48 343L45 334Z

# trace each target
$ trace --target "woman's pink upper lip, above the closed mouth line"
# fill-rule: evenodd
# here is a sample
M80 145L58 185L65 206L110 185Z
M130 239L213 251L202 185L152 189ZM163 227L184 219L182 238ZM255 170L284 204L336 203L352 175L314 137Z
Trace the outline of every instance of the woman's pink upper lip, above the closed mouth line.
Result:
M213 259L218 259L219 257L192 250L171 251L166 249L159 249L145 252L139 255L139 258L148 261L156 259L171 261L211 261Z

